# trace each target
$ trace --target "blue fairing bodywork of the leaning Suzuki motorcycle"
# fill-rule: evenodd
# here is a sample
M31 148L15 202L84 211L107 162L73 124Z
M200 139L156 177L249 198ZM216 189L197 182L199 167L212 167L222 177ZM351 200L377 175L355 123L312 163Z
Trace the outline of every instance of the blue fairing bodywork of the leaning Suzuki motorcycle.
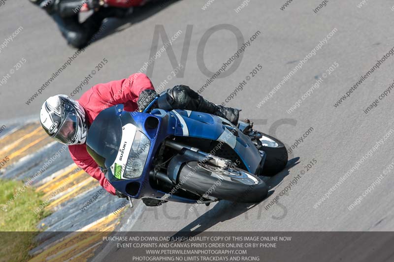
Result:
M149 125L147 125L147 119L149 117L155 117L157 119L157 127L149 129ZM116 125L113 124L114 127L110 129L106 126L106 123L109 124L110 119L114 118L118 120L113 120ZM118 157L118 151L121 151L120 139L127 138L129 134L129 132L122 131L122 129L128 130L127 126L130 127L131 125L134 132L142 132L146 135L149 139L150 147L148 146L149 152L141 175L139 177L125 179L124 177L116 177L113 174L116 173L113 168L113 166L116 166L116 162L114 163L113 161ZM108 130L112 131L108 132ZM230 130L233 130L233 132ZM88 134L87 138L88 151L95 158L96 162L106 169L106 178L120 192L138 199L150 197L183 203L197 202L196 200L182 198L175 194L169 196L168 193L156 190L150 186L149 172L154 168L153 158L164 140L169 136L189 136L222 141L233 148L247 170L253 174L259 168L262 161L262 155L249 137L236 129L228 120L200 112L187 110L172 110L167 112L162 109L154 109L150 114L135 113L123 111L123 105L117 105L103 110L92 123L89 132L90 135ZM115 133L118 134L115 135ZM106 137L105 141L102 137ZM132 182L136 182L138 186L136 187L135 193L128 194L127 192L130 192L130 190L128 191L127 187L130 187Z

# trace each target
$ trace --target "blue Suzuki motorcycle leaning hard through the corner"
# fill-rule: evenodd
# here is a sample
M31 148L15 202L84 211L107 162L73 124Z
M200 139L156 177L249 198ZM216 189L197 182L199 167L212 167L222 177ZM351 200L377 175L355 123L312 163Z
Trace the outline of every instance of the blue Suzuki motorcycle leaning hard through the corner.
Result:
M248 119L235 126L195 111L144 112L126 112L123 105L103 110L86 142L105 177L130 204L131 198L260 202L268 187L259 175L274 175L287 164L283 143L254 130Z

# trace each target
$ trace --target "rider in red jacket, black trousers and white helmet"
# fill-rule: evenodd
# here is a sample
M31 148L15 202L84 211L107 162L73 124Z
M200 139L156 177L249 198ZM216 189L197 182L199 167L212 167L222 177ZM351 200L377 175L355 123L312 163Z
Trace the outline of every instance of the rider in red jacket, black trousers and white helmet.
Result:
M206 112L238 121L239 111L215 105L187 86L167 89L164 94L169 107ZM49 97L41 107L40 122L45 132L57 141L68 145L71 158L86 173L99 180L100 185L112 195L125 197L117 192L100 171L98 164L86 150L89 126L106 108L123 104L125 111L144 110L158 96L152 82L142 73L129 78L98 84L86 91L79 100L66 95ZM154 108L154 105L152 108Z

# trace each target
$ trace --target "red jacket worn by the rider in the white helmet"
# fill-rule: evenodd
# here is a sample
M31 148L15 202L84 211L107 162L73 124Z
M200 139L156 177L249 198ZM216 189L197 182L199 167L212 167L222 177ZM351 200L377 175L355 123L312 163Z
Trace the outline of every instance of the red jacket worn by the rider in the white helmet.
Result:
M145 74L137 73L129 78L98 84L87 90L77 101L85 109L85 118L90 126L103 109L111 106L123 104L126 111L135 111L138 108L138 96L145 89L155 88ZM106 191L115 195L115 188L107 181L97 163L86 151L86 144L68 146L68 150L78 167L99 180Z

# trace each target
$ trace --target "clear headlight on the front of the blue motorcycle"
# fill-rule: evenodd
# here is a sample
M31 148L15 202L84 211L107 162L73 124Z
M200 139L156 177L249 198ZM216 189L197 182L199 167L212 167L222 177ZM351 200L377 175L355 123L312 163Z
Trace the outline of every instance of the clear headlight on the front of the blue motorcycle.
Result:
M137 178L142 175L150 146L151 142L145 134L137 131L131 145L129 158L127 159L124 177Z

